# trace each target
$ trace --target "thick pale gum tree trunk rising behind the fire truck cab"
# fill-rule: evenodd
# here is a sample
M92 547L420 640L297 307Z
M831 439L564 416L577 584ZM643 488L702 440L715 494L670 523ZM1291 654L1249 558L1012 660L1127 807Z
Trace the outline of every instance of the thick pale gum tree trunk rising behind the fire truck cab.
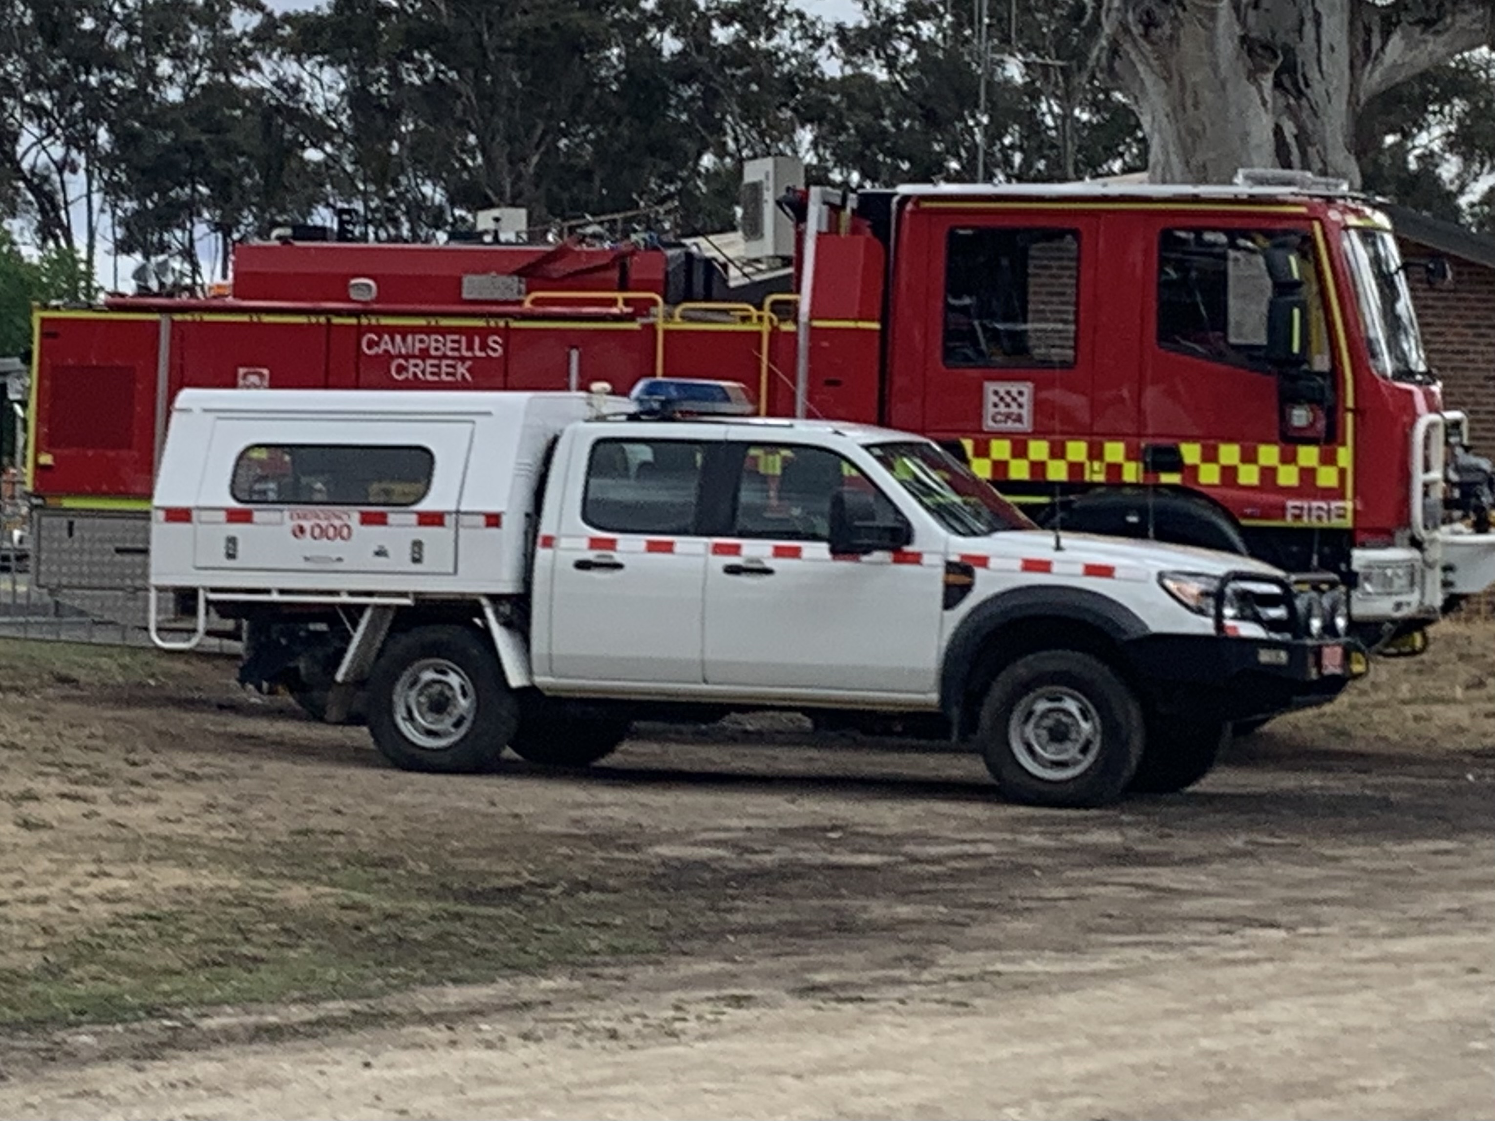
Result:
M1491 42L1495 0L1103 0L1154 182L1299 167L1359 185L1365 102Z

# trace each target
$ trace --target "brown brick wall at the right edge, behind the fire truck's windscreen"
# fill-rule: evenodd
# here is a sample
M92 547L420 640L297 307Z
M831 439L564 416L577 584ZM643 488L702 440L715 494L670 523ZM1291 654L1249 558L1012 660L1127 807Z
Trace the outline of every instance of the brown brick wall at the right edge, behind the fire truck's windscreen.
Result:
M1435 256L1405 239L1401 250L1405 257ZM1416 271L1407 280L1428 363L1443 378L1444 405L1468 413L1474 450L1495 456L1495 269L1450 260L1450 287L1429 288Z

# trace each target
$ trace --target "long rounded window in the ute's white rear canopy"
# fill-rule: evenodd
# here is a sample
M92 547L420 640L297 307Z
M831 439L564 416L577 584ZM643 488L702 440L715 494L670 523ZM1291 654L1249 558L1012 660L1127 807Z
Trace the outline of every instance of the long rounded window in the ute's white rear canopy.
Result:
M230 493L245 505L413 507L435 463L425 447L256 444L239 453Z

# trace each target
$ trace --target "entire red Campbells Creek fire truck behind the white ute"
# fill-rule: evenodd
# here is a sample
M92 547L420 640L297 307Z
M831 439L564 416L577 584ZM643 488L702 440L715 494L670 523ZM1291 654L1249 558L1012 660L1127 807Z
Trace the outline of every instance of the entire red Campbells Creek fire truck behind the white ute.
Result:
M1440 269L1343 187L815 187L780 208L792 269L750 300L683 247L281 239L239 247L223 296L39 311L37 581L115 613L145 587L184 386L656 374L928 433L1069 531L1335 572L1387 652L1495 581L1491 468L1413 314L1408 272Z

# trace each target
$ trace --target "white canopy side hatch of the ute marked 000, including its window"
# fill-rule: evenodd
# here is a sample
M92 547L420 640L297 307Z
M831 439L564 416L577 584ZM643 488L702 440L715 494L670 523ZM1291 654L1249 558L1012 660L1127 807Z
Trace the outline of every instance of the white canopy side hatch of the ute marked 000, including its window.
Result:
M196 563L241 572L456 572L469 421L223 419Z

